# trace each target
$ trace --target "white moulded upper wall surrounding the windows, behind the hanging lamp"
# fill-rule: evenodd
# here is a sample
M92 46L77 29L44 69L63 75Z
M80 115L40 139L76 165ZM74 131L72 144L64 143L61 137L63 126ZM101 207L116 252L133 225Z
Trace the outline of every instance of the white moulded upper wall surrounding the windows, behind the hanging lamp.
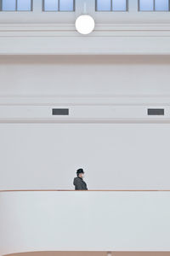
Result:
M75 28L84 2L95 20L94 32L85 36ZM95 0L77 0L75 12L42 12L42 0L34 0L32 12L1 12L0 55L169 55L169 12L139 12L137 0L128 7L95 12Z

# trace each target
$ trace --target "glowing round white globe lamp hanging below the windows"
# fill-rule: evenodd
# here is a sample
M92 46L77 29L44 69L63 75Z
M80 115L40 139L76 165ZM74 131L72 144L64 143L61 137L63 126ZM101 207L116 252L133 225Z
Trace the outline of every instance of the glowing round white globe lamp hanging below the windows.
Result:
M93 32L94 26L94 18L90 15L80 15L76 20L77 32L83 35Z

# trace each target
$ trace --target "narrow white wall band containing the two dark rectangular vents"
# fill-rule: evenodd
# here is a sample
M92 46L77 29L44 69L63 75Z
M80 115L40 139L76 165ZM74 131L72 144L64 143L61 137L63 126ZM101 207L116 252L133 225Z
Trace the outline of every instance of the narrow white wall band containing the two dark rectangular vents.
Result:
M69 108L69 115L52 115L53 108ZM164 109L164 115L148 115L148 108ZM168 105L139 105L128 106L124 104L108 106L71 106L71 105L49 105L49 106L0 106L0 122L170 122L170 106Z

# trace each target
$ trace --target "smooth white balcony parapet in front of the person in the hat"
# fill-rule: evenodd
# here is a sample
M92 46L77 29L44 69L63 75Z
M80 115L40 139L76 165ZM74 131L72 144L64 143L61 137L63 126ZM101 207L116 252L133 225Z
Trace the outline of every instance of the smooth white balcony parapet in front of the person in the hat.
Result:
M170 192L0 193L0 255L169 251Z

